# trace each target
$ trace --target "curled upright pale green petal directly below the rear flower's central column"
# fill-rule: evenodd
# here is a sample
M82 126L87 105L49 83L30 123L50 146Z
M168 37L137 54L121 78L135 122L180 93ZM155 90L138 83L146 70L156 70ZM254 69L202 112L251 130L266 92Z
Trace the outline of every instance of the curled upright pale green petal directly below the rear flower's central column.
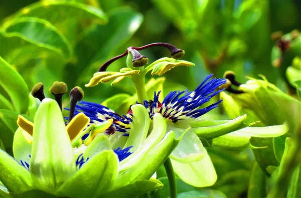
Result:
M133 146L130 151L135 151L145 140L149 128L149 114L143 105L137 104L131 106L133 111L133 121L129 131L129 137L124 148Z

